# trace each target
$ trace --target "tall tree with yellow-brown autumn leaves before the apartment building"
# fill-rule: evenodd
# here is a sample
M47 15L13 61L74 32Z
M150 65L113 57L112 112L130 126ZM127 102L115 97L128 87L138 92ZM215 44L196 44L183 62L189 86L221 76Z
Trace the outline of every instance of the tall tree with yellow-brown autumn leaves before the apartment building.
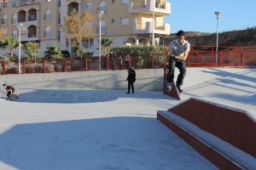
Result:
M63 17L64 25L61 25L62 31L65 31L67 39L71 40L71 45L87 42L90 38L95 37L94 30L91 26L95 17L89 11L83 11L81 17L77 11L70 12Z

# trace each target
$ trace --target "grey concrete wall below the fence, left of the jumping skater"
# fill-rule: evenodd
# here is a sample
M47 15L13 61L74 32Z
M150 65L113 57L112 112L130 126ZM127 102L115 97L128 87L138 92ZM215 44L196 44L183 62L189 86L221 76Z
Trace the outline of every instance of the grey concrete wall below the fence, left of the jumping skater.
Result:
M136 70L136 90L162 90L163 69ZM47 74L4 75L0 82L16 88L126 89L127 71L87 71Z

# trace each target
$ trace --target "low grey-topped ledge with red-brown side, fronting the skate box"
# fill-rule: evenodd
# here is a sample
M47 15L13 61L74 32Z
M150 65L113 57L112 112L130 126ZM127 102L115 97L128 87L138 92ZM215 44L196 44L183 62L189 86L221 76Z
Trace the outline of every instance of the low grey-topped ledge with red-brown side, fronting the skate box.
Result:
M157 119L219 169L256 169L256 159L218 139L170 111L157 111Z

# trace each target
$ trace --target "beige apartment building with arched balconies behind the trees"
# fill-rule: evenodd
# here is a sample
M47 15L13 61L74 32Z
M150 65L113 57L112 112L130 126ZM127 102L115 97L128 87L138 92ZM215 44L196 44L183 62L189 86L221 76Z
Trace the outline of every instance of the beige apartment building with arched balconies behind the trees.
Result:
M96 16L92 23L96 37L82 45L95 54L98 54L100 30L102 37L113 39L113 46L149 45L153 31L155 44L160 36L170 35L170 24L164 23L164 16L171 14L171 3L166 0L9 0L0 3L0 9L0 24L4 26L5 35L18 39L16 26L21 23L26 27L26 33L21 34L20 41L38 42L42 51L52 44L71 52L60 26L64 23L63 16L73 10L79 14L89 10ZM101 29L96 15L98 11L103 13ZM0 54L3 51L1 49Z

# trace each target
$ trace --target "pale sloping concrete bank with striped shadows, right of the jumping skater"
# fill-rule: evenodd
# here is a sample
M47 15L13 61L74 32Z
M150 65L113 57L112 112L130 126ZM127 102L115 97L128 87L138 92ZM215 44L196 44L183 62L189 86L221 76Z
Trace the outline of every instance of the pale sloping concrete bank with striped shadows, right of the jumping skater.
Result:
M176 70L174 82L178 73ZM191 97L228 99L256 105L256 69L188 67L183 89L183 100Z

